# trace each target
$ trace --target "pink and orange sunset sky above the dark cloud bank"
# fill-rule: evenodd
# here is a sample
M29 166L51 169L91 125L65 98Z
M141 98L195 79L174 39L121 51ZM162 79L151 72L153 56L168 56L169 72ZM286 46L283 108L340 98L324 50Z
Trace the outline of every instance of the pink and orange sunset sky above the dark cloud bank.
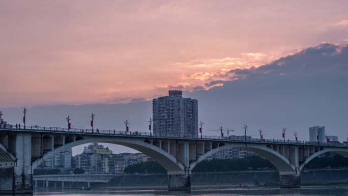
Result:
M204 91L232 69L346 44L347 10L347 1L0 0L0 107Z

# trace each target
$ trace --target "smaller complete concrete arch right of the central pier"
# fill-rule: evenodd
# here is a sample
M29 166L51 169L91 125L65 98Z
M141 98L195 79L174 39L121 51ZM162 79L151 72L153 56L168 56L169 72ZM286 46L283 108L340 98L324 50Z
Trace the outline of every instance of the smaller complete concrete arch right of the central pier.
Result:
M255 145L255 144L248 144L246 147L243 143L238 144L225 144L223 146L217 147L212 149L211 151L205 153L204 155L201 155L198 157L198 160L190 164L190 169L192 170L200 161L204 160L205 158L225 149L230 148L240 148L243 150L252 151L254 153L257 153L261 156L263 156L265 159L270 161L275 167L277 167L279 172L283 173L294 173L296 171L296 166L292 164L287 158L285 158L283 155L278 153L277 151L274 151L267 146L261 146L261 145Z

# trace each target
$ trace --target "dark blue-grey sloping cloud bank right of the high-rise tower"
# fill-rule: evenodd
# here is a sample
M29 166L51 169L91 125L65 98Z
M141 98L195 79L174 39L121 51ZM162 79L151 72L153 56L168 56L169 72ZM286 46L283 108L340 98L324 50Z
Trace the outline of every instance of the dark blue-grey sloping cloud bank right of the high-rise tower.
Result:
M308 127L322 125L328 134L346 139L348 133L348 46L323 43L251 69L231 70L223 87L187 93L197 98L199 118L208 129L218 126L243 134L265 130L279 138L283 126L288 136L308 139ZM210 85L210 83L206 84Z

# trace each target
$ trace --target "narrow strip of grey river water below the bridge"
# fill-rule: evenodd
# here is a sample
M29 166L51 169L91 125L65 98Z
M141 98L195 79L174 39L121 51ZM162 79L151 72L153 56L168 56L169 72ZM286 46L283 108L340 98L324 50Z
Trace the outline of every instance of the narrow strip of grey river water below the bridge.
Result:
M301 187L301 188L217 188L217 189L204 189L196 188L189 192L187 191L166 191L166 190L105 190L105 189L91 189L91 190L65 190L64 192L51 191L51 192L36 192L34 195L38 196L110 196L110 195L332 195L343 196L348 195L347 186L322 186L322 187ZM24 196L24 195L22 195ZM26 195L25 195L26 196Z

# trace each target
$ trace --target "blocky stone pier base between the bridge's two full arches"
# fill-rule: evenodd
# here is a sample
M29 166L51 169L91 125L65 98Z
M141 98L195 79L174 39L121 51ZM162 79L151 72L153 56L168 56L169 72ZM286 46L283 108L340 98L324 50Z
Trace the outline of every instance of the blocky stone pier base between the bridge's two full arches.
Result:
M191 190L190 175L168 172L168 190Z

